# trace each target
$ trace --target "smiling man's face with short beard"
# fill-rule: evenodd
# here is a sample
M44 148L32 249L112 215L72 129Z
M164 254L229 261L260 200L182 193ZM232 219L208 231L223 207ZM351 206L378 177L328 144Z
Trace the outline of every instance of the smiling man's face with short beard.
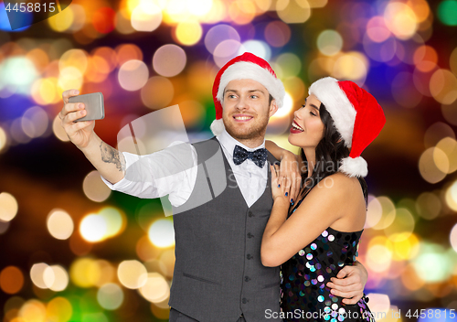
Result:
M265 136L268 120L278 106L258 81L230 81L224 91L222 119L231 136L240 140Z

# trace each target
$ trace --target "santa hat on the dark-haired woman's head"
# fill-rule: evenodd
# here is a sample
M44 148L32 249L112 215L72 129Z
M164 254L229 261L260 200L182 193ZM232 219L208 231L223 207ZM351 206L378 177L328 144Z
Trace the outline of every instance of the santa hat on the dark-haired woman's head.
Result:
M367 177L367 161L360 155L386 123L377 100L355 82L337 81L332 77L314 81L308 92L324 104L345 146L351 149L339 171L349 177Z

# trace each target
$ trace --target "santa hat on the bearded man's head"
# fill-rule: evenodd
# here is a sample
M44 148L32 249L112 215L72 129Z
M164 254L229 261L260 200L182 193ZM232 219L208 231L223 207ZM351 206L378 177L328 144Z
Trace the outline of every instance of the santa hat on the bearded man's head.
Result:
M276 74L271 69L270 64L260 57L250 52L235 57L228 61L216 75L213 84L213 100L216 108L216 120L211 124L213 134L221 134L224 130L222 122L222 102L224 101L224 91L230 81L252 80L258 81L276 100L278 107L282 107L285 90L282 81L278 80Z

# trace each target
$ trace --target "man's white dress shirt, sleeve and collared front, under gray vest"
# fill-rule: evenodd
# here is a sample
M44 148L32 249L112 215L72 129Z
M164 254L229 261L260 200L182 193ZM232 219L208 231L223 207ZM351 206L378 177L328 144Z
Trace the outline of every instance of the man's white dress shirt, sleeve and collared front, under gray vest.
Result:
M239 143L225 130L217 139L233 170L243 198L249 207L252 206L267 186L268 163L260 168L247 159L237 166L233 162L233 150L235 145L239 145L248 151L254 151L265 147L265 140L260 146L250 148ZM166 148L146 156L122 152L126 166L125 177L115 184L104 177L101 179L112 190L143 199L168 195L173 206L181 206L189 199L197 180L197 151L194 146L185 143L174 143L171 146L174 148ZM233 187L236 183L230 182L228 177L228 185Z

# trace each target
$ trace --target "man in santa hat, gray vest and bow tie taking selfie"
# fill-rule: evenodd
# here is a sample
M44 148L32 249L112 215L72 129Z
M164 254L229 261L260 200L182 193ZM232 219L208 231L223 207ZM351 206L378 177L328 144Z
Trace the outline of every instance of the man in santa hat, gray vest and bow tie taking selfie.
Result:
M260 262L261 236L272 206L265 164L275 161L264 149L264 136L285 94L268 62L245 53L219 70L213 86L217 120L211 125L218 136L191 145L186 157L174 147L142 161L119 154L94 133L93 121L73 123L85 115L82 107L68 102L75 94L63 93L62 125L105 183L141 198L169 195L174 206L170 321L281 321L274 315L280 312L279 268ZM133 179L148 172L151 179ZM221 181L230 184L219 185ZM335 295L354 296L350 303L356 303L366 272L347 267L340 276L345 274L351 277L331 286Z

